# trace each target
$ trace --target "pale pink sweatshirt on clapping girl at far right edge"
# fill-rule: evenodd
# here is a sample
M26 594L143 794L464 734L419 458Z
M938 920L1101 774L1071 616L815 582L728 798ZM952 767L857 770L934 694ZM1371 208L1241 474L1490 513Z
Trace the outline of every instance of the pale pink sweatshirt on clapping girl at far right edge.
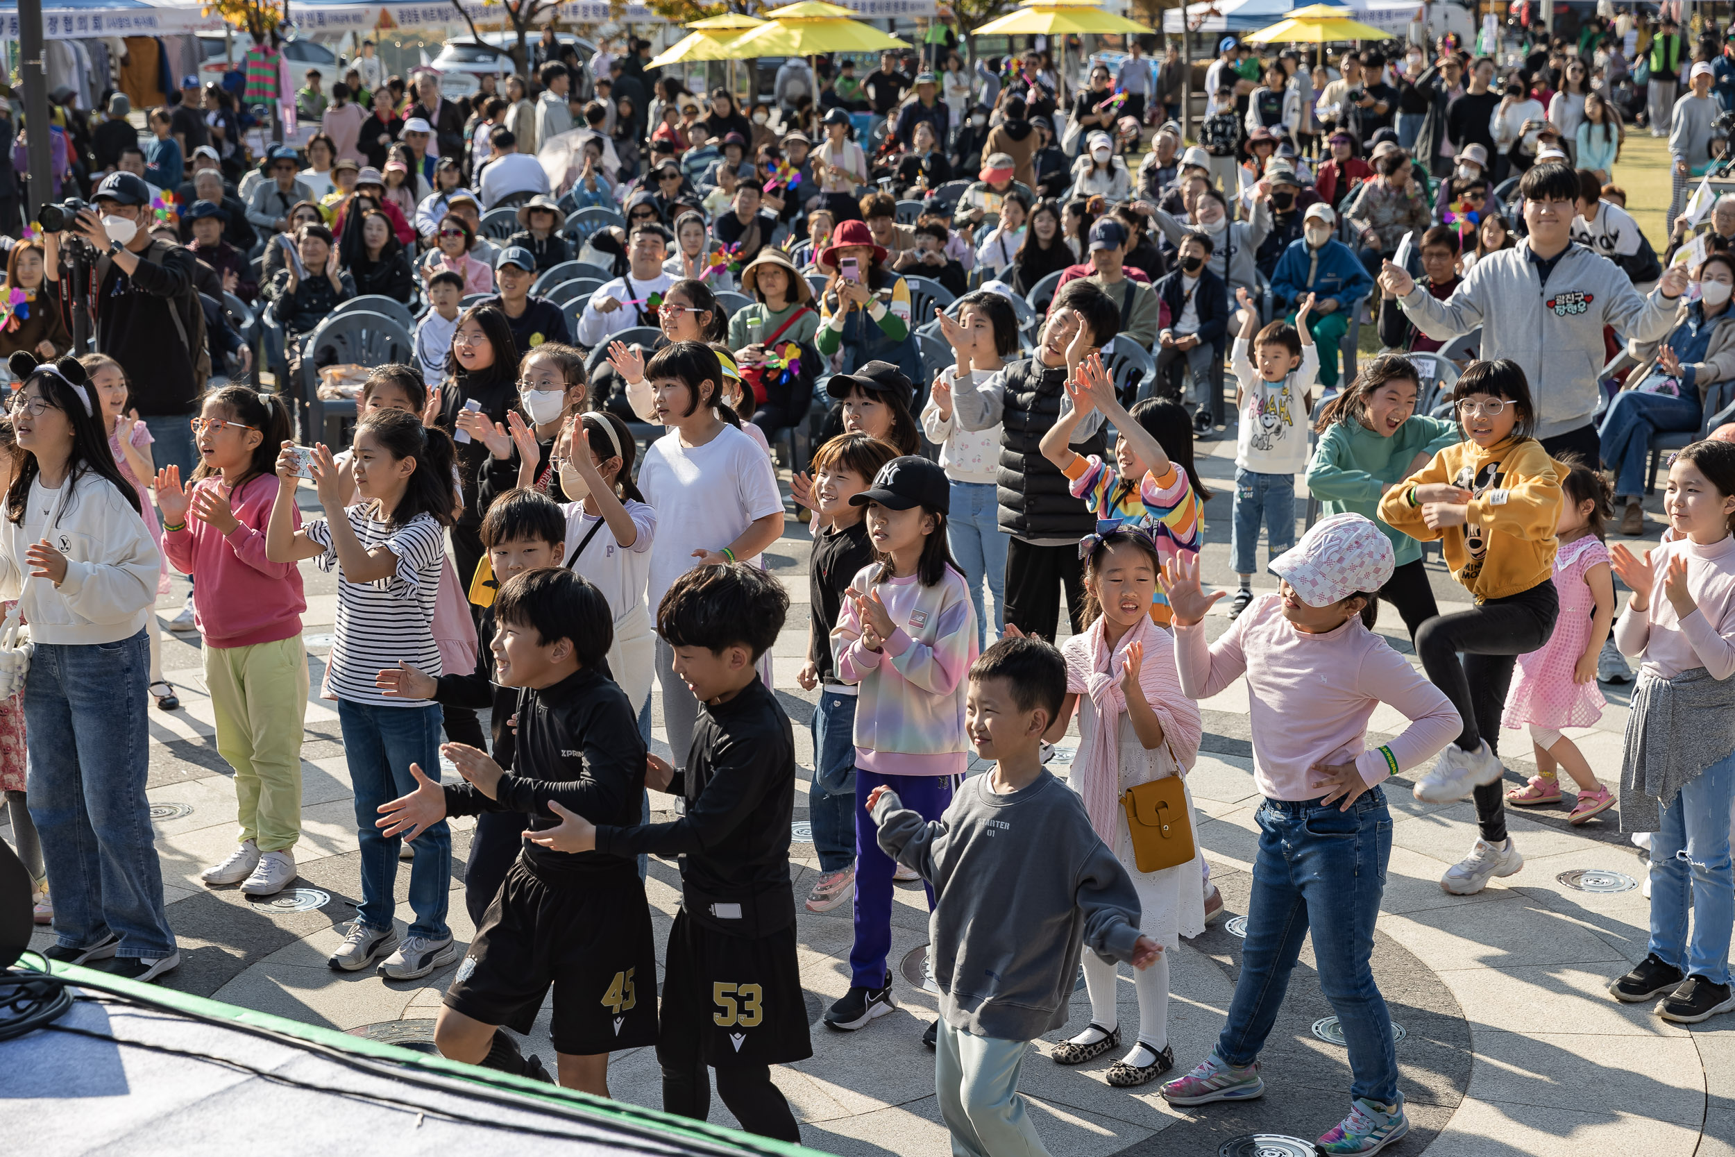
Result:
M1686 555L1686 590L1699 609L1685 619L1662 593L1662 576L1669 559ZM1650 552L1650 607L1633 604L1615 621L1615 645L1620 654L1645 656L1643 670L1657 678L1674 678L1695 666L1711 678L1735 675L1735 538L1700 546L1692 539L1667 541Z

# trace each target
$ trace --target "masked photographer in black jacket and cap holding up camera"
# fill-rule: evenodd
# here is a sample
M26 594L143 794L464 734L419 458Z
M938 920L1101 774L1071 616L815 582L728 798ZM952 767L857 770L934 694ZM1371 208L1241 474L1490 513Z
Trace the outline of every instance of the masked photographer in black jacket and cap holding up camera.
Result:
M198 465L191 420L210 376L205 312L193 288L196 258L151 238L151 189L142 177L109 173L92 199L94 210L78 201L43 206L47 278L61 281L61 252L83 246L68 257L75 271L94 265L95 349L127 371L134 406L156 439L156 465L189 477Z

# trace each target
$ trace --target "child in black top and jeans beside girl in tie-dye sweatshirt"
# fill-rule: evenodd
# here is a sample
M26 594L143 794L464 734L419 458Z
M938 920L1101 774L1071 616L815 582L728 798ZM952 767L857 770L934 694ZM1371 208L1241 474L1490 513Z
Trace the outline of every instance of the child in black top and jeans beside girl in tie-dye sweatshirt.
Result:
M807 819L819 853L819 879L807 897L809 912L829 912L855 895L855 687L838 682L831 628L843 609L843 592L873 562L864 507L850 498L873 486L880 467L897 449L866 434L840 434L814 454L814 479L796 477L814 508L814 550L807 555L810 623L807 666L795 677L802 690L819 687L814 708L814 786Z

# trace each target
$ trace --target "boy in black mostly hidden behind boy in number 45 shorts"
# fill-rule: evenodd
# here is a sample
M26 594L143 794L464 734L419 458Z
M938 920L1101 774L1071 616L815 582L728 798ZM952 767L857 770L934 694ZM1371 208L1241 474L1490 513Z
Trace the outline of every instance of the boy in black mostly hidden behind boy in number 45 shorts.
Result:
M501 583L526 571L560 565L566 548L566 515L547 494L508 491L482 515L481 534L488 562L494 571L488 585L498 592ZM494 638L493 604L482 607L475 633L482 645L477 647L474 671L432 678L408 663L399 663L380 671L373 682L389 699L432 699L444 708L472 711L491 708L494 763L512 767L517 737L507 727L507 720L519 708L519 689L494 682L494 650L489 647ZM522 812L489 810L475 817L470 859L463 866L463 904L470 911L470 923L477 928L482 926L488 905L494 902L507 871L519 859L527 826L529 815Z

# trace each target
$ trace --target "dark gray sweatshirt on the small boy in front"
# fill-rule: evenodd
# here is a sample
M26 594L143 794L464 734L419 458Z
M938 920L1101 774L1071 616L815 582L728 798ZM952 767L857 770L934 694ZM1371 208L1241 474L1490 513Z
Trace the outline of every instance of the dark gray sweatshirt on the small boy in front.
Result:
M873 819L885 853L933 885L928 951L946 1023L1034 1041L1067 1023L1081 940L1131 961L1138 893L1076 791L1046 770L1005 796L987 781L966 779L939 820L894 791Z

